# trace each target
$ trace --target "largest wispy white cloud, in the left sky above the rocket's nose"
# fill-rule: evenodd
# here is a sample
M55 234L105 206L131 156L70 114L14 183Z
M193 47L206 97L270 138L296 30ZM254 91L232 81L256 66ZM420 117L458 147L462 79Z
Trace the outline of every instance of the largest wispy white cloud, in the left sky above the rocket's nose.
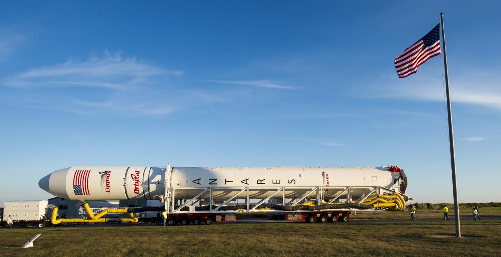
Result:
M182 71L106 51L101 58L93 54L87 61L35 67L8 77L1 82L16 96L0 97L4 102L81 115L166 115L225 100L183 88L180 79Z

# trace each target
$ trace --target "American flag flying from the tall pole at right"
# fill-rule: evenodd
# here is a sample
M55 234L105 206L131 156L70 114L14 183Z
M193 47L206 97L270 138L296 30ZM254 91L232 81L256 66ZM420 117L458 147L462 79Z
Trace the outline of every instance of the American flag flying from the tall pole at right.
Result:
M440 55L440 24L436 25L423 38L395 58L395 68L399 78L417 72L417 67L427 60Z

